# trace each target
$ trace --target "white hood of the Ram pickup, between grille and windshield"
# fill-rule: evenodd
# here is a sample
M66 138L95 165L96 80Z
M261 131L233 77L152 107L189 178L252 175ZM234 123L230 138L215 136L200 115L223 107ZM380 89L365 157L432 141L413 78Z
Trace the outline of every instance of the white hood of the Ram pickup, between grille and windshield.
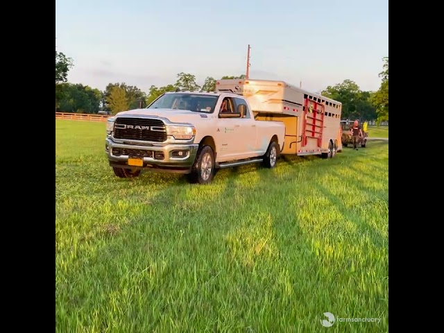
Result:
M192 112L189 110L177 109L136 109L119 112L116 116L124 117L126 115L163 117L173 123L194 123L195 121L207 120L211 116L211 114L205 112Z

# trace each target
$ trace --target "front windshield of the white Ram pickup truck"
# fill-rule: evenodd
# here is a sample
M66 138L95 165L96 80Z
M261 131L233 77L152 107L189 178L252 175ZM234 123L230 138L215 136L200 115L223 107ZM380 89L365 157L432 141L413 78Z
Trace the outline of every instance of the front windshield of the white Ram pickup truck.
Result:
M193 112L214 112L219 96L203 94L164 94L148 109L178 109L190 110Z

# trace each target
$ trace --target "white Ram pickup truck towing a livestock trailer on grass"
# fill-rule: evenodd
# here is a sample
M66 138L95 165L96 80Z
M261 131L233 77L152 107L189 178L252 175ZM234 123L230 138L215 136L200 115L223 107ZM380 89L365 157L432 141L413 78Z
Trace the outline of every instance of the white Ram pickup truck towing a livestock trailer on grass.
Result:
M215 169L262 162L275 167L284 146L280 121L257 121L248 101L220 92L167 92L145 109L119 112L106 126L105 153L114 174L144 169L212 181Z

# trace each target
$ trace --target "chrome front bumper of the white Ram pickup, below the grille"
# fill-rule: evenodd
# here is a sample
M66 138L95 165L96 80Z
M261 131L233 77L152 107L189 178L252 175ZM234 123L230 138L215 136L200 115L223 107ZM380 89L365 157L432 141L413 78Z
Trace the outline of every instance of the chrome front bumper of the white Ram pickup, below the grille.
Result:
M109 137L105 139L105 153L110 166L124 169L158 169L159 171L189 173L196 159L198 146L198 144L142 146L119 144ZM130 158L142 160L143 165L128 165Z

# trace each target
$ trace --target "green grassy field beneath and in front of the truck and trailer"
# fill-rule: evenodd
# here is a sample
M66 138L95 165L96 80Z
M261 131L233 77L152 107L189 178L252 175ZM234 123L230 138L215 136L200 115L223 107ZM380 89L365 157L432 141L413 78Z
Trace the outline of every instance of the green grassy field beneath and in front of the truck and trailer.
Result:
M57 332L388 332L388 143L198 186L115 177L104 137L56 120Z

